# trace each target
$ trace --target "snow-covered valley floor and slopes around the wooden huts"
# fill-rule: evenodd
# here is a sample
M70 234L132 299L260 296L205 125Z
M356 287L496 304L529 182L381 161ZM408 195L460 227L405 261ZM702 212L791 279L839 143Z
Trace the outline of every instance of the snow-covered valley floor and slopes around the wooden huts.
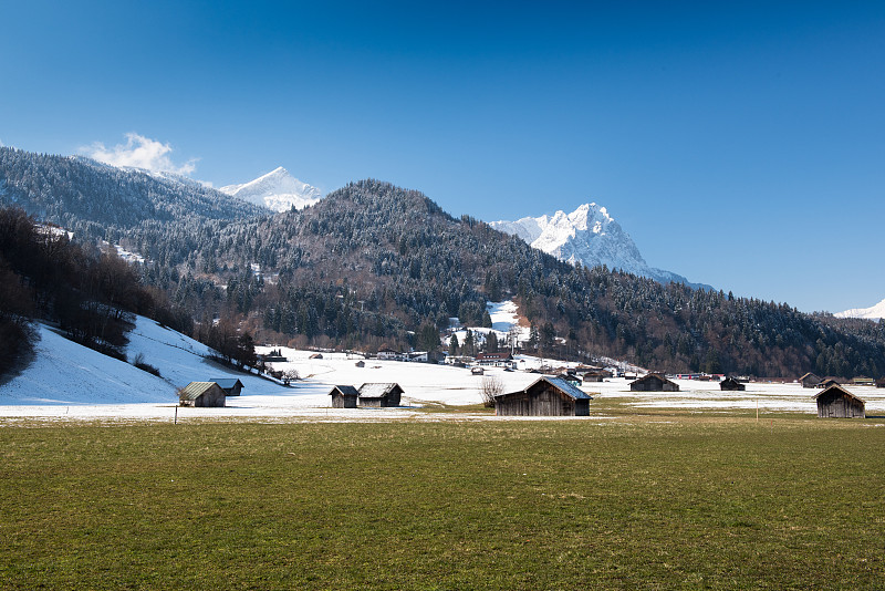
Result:
M509 311L508 311L509 312ZM289 361L272 364L277 370L294 369L301 380L287 387L258 375L244 375L207 361L208 349L187 336L138 318L129 334L127 357L136 354L159 369L156 377L129 363L106 357L72 343L48 328L40 329L37 357L20 375L0 385L0 418L179 421L188 418L261 418L279 421L378 421L396 418L446 419L450 414L427 413L438 405L472 405L481 402L482 376L461 367L363 360L344 353L322 353L281 348ZM270 348L260 348L268 352ZM364 361L365 366L356 363ZM506 392L525 387L539 376L524 370L542 360L518 356L521 371L487 370L501 380ZM549 360L548 360L549 363ZM228 397L225 408L178 408L176 388L194 381L238 377L242 395ZM332 408L329 391L334 385L360 386L366 382L397 382L405 391L399 408ZM677 381L681 392L629 392L626 380L590 384L596 404L624 408L677 408L701 413L729 409L764 412L816 412L814 390L798 384L747 384L746 392L720 392L715 382ZM848 388L866 401L867 415L885 415L885 390ZM593 415L594 403L591 403ZM424 409L421 409L424 408ZM487 414L460 413L460 417L492 418ZM597 415L598 417L598 415ZM512 417L508 417L512 418Z

